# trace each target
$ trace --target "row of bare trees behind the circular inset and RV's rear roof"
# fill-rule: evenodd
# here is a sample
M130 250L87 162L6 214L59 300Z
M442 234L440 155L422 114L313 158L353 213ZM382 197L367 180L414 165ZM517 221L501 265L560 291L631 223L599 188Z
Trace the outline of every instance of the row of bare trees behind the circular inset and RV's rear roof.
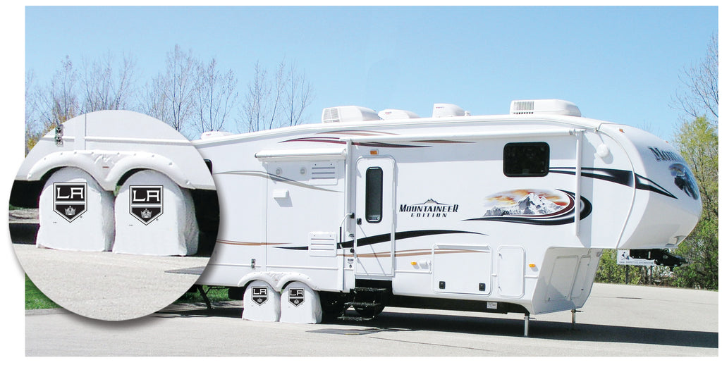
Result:
M146 82L133 56L106 53L82 60L80 67L66 56L46 82L26 71L26 153L58 124L96 110L144 113L189 139L206 131L261 131L305 121L314 92L303 71L283 60L270 73L256 62L253 73L239 90L233 70L221 69L215 58L202 61L179 45L166 54L165 69Z

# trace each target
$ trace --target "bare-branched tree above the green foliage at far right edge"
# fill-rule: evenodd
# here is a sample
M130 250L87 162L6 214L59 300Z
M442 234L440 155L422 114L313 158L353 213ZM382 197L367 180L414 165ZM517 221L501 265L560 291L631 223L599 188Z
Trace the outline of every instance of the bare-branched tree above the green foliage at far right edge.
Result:
M718 37L713 35L705 58L681 71L682 91L673 100L675 107L693 118L710 113L708 120L713 126L718 126L718 64Z

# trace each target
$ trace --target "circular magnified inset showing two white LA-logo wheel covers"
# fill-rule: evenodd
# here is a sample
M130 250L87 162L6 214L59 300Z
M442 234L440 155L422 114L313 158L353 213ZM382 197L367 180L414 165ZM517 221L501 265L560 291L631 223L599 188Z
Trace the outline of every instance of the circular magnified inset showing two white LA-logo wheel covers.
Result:
M22 268L56 304L97 320L157 312L213 252L215 185L188 139L123 110L72 118L22 163L10 195Z

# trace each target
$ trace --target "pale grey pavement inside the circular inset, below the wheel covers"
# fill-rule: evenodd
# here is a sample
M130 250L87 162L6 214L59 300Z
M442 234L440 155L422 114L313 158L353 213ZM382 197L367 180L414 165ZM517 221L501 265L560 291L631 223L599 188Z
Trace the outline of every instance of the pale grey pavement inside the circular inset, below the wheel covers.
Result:
M208 258L77 252L13 245L38 289L72 312L99 320L144 317L190 288Z

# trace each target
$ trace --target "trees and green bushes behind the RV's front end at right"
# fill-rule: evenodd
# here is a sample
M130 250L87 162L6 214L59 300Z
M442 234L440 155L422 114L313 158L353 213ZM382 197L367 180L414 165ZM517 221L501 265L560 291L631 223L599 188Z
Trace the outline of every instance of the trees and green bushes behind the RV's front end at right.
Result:
M599 263L596 281L664 283L718 290L718 64L718 37L714 35L705 58L680 72L680 89L671 101L671 106L683 115L672 142L697 179L703 208L697 227L674 250L676 255L687 258L689 265L674 271L664 267L629 268L617 265L615 250L606 250Z

